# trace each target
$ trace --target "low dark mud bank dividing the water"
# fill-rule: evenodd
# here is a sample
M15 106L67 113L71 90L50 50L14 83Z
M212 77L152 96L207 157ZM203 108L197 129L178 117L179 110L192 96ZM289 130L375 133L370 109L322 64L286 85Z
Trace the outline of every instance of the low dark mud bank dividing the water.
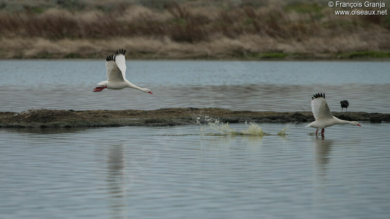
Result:
M350 121L390 122L390 113L332 112ZM234 111L219 108L169 108L160 110L46 110L0 112L0 128L76 128L117 126L192 125L208 118L223 123L312 122L312 112Z

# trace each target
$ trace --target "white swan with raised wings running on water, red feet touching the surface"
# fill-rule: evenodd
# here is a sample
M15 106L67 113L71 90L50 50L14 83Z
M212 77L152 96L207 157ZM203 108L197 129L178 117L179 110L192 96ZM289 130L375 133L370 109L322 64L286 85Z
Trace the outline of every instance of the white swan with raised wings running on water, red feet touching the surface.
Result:
M336 125L336 124L350 124L352 126L361 126L358 122L351 122L346 120L341 120L334 117L329 110L328 103L325 100L325 93L317 93L312 97L312 111L315 118L315 121L307 125L306 127L317 128L315 135L319 129L321 134L324 134L325 128Z

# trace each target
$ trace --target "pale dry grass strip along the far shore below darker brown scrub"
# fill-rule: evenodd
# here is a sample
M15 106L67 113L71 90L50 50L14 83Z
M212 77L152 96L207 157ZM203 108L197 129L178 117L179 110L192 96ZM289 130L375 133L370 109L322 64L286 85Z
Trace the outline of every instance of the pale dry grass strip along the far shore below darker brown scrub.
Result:
M350 35L348 37L309 37L297 42L291 39L245 35L232 39L222 37L198 43L176 42L170 38L115 37L106 39L0 38L2 58L102 58L113 48L126 48L129 58L261 58L256 54L290 54L297 58L335 58L336 54L355 51L390 50L388 38ZM279 56L275 56L276 58ZM284 56L281 56L284 57Z

